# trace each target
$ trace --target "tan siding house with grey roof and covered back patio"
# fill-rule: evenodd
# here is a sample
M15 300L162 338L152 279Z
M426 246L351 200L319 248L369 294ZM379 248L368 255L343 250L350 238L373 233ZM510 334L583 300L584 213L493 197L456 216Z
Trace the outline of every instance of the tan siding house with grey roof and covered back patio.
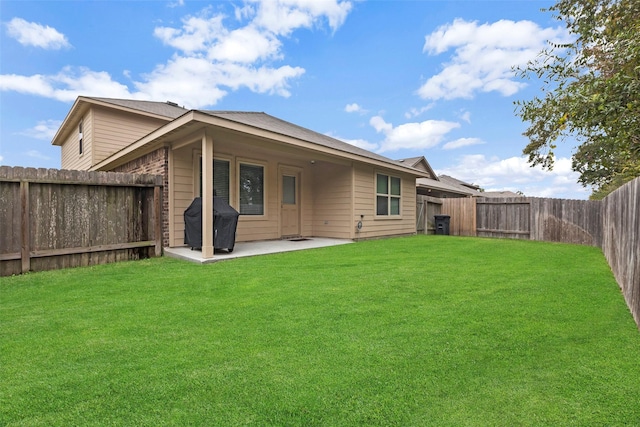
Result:
M184 246L185 209L202 197L213 212L214 194L240 212L240 242L414 234L416 179L429 176L265 113L172 103L80 97L52 143L63 168L163 175L165 247ZM213 256L207 216L204 258Z

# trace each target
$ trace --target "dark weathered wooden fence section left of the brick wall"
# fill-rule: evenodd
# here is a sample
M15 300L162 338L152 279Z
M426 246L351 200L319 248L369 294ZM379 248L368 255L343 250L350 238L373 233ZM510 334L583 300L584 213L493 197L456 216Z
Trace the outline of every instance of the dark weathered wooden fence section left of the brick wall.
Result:
M162 253L162 177L0 167L0 276Z

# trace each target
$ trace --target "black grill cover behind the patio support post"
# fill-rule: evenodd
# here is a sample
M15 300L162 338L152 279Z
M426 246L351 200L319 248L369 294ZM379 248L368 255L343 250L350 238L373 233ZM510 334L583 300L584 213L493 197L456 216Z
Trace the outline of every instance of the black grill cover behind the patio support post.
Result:
M213 247L233 251L238 227L238 211L223 198L213 198ZM191 249L202 248L202 198L196 197L184 211L184 243Z

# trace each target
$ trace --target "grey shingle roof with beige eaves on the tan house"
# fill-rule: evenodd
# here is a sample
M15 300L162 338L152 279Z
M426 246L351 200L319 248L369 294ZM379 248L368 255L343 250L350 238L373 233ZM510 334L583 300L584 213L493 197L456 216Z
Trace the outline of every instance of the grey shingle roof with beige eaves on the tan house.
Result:
M270 139L280 140L301 148L322 151L326 154L384 165L411 173L416 177L428 176L428 172L425 172L425 170L415 168L405 162L389 159L263 112L187 110L175 103L168 102L79 97L58 130L52 144L62 145L66 132L70 130L63 130L63 128L69 128L70 122L73 122L74 118L81 116L91 105L109 106L135 114L162 118L167 122L145 137L134 141L129 146L94 165L97 170L101 170L108 165L114 166L114 162L122 162L125 158L137 157L150 152L164 142L175 139L176 133L189 134L207 125L215 125L241 132L259 133Z

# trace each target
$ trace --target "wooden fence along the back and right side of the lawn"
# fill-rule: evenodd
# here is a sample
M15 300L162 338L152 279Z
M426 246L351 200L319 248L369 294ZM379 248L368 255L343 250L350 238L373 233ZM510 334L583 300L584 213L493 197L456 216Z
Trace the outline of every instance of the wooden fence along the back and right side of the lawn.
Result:
M602 249L640 326L640 178L604 200L442 199L457 236L507 237Z

